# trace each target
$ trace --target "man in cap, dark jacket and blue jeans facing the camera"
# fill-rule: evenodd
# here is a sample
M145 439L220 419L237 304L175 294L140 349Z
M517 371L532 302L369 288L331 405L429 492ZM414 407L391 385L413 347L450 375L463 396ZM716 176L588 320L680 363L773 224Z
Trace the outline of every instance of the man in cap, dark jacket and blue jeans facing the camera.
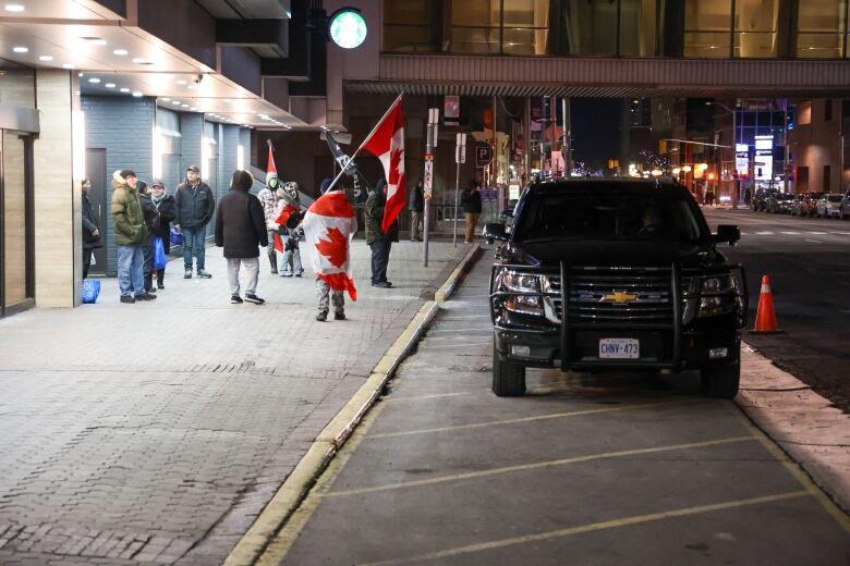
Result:
M174 227L183 233L183 267L186 269L184 279L192 279L192 254L197 263L197 276L209 279L204 269L204 241L207 224L216 211L216 197L209 185L201 181L201 169L192 165L186 170L186 181L182 183L174 195L177 218Z

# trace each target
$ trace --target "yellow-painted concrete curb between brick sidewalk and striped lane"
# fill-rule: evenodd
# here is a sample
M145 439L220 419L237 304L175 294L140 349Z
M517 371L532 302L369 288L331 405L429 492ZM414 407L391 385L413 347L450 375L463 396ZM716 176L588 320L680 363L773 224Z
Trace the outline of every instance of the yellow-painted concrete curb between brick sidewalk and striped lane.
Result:
M475 245L437 291L437 300L429 300L420 308L413 320L372 370L366 382L316 436L292 473L278 489L247 532L230 551L224 559L224 566L250 566L256 564L262 557L269 542L298 509L316 479L349 440L369 408L381 396L384 387L396 373L399 365L410 354L437 316L439 304L451 297L460 281L481 256L481 246Z

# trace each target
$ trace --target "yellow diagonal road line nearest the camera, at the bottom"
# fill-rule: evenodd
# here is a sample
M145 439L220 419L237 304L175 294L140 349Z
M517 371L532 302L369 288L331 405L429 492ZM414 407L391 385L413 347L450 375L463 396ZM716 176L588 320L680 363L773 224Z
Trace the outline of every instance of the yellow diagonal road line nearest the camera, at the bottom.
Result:
M620 527L630 527L632 525L642 525L645 522L654 522L664 519L671 519L678 517L690 517L693 515L701 515L704 513L712 513L718 510L733 509L737 507L746 507L751 505L761 505L765 503L775 503L786 500L794 500L811 495L807 491L790 491L786 493L774 493L770 495L763 495L761 497L750 497L746 500L727 501L724 503L713 503L709 505L699 505L695 507L685 507L681 509L670 509L660 513L651 513L647 515L636 515L633 517L623 517L621 519L605 520L599 522L592 522L590 525L580 525L578 527L569 527L567 529L558 529L547 532L538 532L536 534L526 534L524 537L514 537L511 539L502 539L497 541L482 542L478 544L470 544L466 546L456 546L453 549L447 549L445 551L432 552L428 554L418 554L413 556L404 556L401 558L391 558L388 561L369 562L361 564L361 566L389 566L391 564L405 564L411 562L435 561L439 558L449 558L459 556L462 554L471 554L473 552L484 552L495 549L503 549L506 546L514 546L517 544L526 544L529 542L538 542L551 539L560 539L563 537L571 537L573 534L582 534L585 532L594 532L607 529L617 529Z

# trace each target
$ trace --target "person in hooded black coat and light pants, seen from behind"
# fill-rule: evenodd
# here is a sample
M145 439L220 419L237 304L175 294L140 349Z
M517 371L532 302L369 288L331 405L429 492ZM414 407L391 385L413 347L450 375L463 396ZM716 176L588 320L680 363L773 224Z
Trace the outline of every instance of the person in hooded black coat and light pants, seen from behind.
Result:
M259 199L248 193L254 177L242 169L233 173L230 192L221 198L216 212L216 245L224 248L228 260L230 303L243 303L240 297L239 270L245 267L248 282L245 300L255 305L265 303L256 295L259 278L259 246L268 246L266 214Z

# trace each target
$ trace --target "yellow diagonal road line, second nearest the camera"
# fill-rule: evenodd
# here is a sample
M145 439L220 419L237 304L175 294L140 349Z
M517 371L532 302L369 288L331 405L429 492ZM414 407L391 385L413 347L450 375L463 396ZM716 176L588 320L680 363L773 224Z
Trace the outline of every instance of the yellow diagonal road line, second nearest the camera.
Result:
M593 462L597 459L619 458L622 456L636 456L640 454L654 454L658 452L671 452L677 450L690 450L701 448L705 446L719 446L722 444L733 444L738 442L757 441L755 436L736 436L731 439L711 440L704 442L692 442L689 444L672 444L668 446L656 446L653 448L635 448L626 450L619 452L607 452L603 454L588 454L586 456L574 456L572 458L559 458L554 460L537 462L535 464L520 464L517 466L506 466L503 468L493 468L488 470L467 471L465 473L456 473L452 476L440 476L437 478L428 478L423 480L413 481L400 481L397 483L387 483L384 485L376 485L373 488L360 488L353 490L331 491L327 493L326 497L343 497L347 495L361 495L363 493L374 493L377 491L390 491L400 490L405 488L417 488L421 485L434 485L436 483L448 483L452 481L470 480L475 478L484 478L487 476L498 476L500 473L510 473L514 471L537 470L544 468L552 468L556 466L566 466L568 464L581 464L585 462Z

